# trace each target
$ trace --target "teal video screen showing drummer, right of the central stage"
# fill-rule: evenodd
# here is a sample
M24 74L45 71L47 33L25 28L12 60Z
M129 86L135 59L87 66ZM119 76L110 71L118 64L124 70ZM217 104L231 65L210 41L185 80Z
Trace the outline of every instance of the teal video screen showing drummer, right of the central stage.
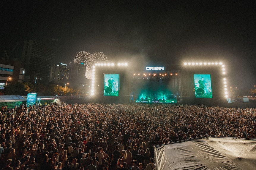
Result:
M211 75L194 75L195 97L212 98Z

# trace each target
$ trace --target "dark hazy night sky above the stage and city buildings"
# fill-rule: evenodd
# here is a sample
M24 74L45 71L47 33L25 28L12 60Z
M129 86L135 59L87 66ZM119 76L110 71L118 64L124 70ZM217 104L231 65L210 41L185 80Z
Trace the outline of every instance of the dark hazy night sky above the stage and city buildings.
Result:
M141 66L222 61L229 86L249 89L255 11L255 1L1 1L0 49L9 53L19 41L10 58L21 59L25 40L45 41L52 64L83 50Z

